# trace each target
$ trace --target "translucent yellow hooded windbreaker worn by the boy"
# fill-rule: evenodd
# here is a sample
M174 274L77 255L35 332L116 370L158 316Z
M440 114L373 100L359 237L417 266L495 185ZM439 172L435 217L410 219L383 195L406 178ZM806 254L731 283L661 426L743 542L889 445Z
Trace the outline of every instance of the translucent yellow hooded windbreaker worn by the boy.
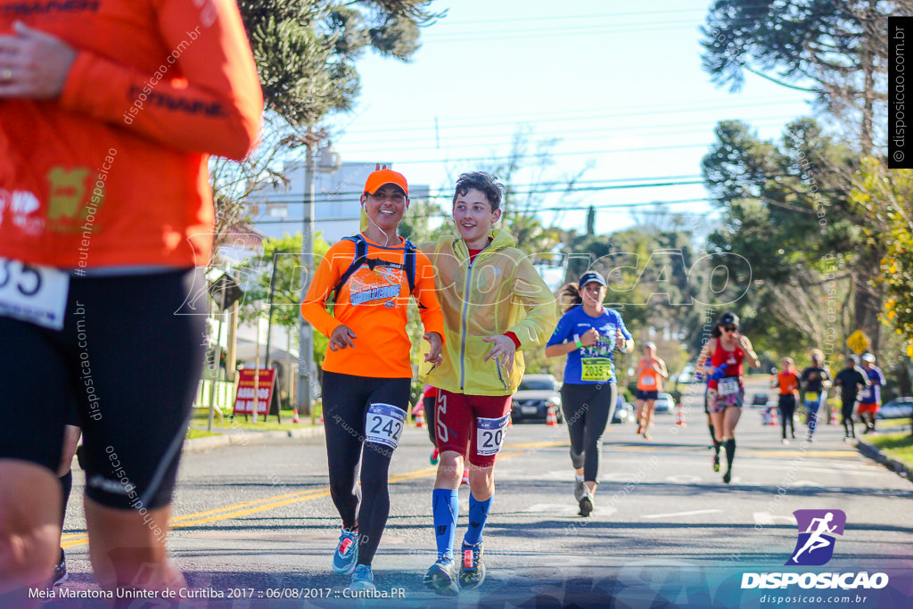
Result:
M545 344L558 323L551 290L507 231L491 231L492 241L469 264L463 239L442 236L422 244L435 268L437 299L444 312L444 361L431 369L422 362L425 383L470 395L508 395L517 390L525 364L521 350ZM483 362L494 346L483 339L512 331L519 349L511 370ZM424 358L419 358L420 361Z

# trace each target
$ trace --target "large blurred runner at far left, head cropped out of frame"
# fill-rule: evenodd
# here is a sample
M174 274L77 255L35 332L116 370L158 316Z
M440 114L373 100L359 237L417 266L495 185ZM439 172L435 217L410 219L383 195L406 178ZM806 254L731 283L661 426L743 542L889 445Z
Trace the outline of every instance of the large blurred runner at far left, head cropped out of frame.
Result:
M26 4L0 0L0 418L16 422L0 425L0 606L58 563L74 402L97 582L177 590L165 539L203 364L206 163L257 141L257 70L227 0Z

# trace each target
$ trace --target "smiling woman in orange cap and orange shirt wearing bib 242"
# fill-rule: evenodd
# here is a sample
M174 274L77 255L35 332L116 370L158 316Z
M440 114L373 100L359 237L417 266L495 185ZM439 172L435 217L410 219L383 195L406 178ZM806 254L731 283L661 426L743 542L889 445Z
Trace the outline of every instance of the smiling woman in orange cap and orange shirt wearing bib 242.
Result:
M381 169L369 175L362 207L368 227L330 248L301 304L304 318L330 337L323 360L323 425L330 493L342 519L332 568L352 573L353 590L374 588L371 563L390 514L387 476L412 384L412 344L405 331L411 296L430 345L426 362L440 362L444 337L434 270L425 254L396 235L409 208L403 174Z

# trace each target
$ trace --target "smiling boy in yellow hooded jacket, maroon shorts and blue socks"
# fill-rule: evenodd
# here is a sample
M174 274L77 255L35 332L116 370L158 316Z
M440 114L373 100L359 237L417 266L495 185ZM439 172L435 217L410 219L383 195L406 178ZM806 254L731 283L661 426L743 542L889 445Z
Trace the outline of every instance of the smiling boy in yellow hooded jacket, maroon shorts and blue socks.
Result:
M455 595L485 579L482 530L495 493L494 465L510 417L511 395L523 376L522 350L548 341L558 320L551 290L507 231L502 185L488 173L456 181L453 219L459 237L421 246L436 270L446 332L442 361L426 382L439 388L436 439L440 449L433 509L438 560L425 585ZM457 574L453 556L464 460L469 461L469 530Z

